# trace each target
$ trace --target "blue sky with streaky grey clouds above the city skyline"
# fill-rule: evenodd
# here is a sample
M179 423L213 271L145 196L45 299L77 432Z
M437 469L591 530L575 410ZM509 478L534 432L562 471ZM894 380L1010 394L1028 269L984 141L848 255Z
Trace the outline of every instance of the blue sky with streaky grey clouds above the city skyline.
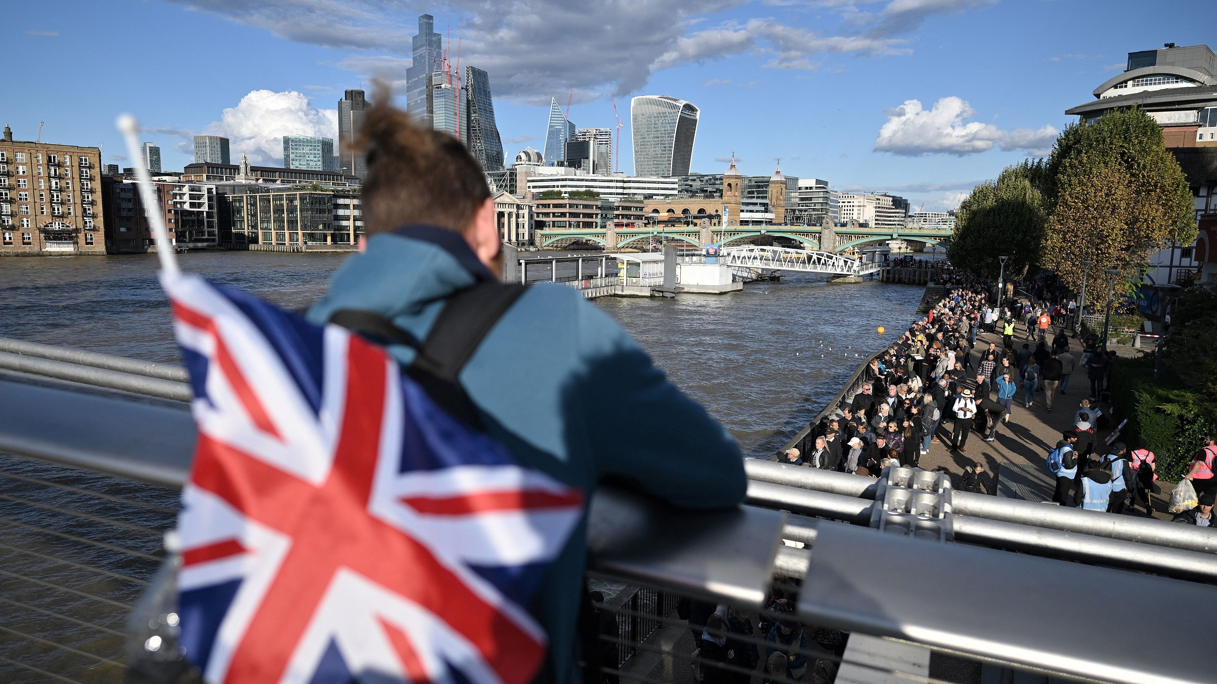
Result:
M486 68L507 158L542 147L550 97L579 127L624 122L629 97L668 94L701 107L692 169L734 150L746 174L828 179L953 207L978 180L1043 153L1123 71L1126 54L1208 43L1196 2L1079 0L106 0L21 2L0 28L10 83L0 124L103 145L135 113L166 169L192 161L189 138L220 133L279 163L284 133L333 135L346 88L404 79L417 15L450 30L461 65ZM1195 16L1195 21L1187 17ZM1170 26L1167 26L1170 24ZM1206 30L1208 29L1208 30ZM404 83L398 89L404 106ZM915 102L913 102L915 101ZM234 155L239 155L234 150Z

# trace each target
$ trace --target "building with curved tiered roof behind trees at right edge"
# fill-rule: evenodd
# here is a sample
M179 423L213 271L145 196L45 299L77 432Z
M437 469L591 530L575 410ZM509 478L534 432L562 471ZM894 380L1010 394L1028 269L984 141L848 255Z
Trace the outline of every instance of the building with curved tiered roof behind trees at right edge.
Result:
M1217 225L1217 55L1207 45L1128 52L1123 73L1095 88L1094 100L1065 110L1066 114L1097 120L1117 107L1139 107L1162 127L1162 141L1174 155L1191 187L1196 225L1207 241ZM1145 281L1187 285L1204 279L1198 254L1212 252L1207 242L1174 245L1150 256ZM1212 269L1210 268L1210 273Z

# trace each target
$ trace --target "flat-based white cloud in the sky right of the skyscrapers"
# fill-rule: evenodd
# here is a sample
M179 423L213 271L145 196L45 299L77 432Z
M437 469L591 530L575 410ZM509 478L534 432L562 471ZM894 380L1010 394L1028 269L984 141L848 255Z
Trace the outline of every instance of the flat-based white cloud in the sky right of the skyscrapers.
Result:
M1034 130L1005 131L991 123L965 123L964 119L974 113L965 100L955 96L940 99L930 110L925 110L920 100L905 100L899 107L887 110L887 123L879 129L875 151L904 157L963 157L999 145L1006 152L1026 150L1028 156L1042 156L1056 139L1058 130L1048 124Z

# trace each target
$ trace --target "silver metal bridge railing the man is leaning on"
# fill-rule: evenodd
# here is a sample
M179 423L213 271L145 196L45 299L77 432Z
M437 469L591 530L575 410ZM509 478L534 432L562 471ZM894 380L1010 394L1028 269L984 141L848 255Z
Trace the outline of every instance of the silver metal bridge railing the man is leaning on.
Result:
M56 421L38 417L47 407L79 421L71 431L55 430ZM184 405L0 380L0 452L22 456L0 461L0 598L10 601L0 611L0 679L120 679L122 622L156 567L159 532L172 525L174 488L186 477L192 444L194 425ZM103 475L73 470L80 467ZM824 472L792 470L800 477ZM841 520L849 510L860 518L874 505L859 497L873 478L830 475L824 488L831 492L753 482L750 498L773 508L719 511L679 510L641 494L598 489L587 525L589 576L639 588L601 604L615 612L616 627L601 630L598 640L615 645L618 661L598 665L601 680L688 682L686 668L694 663L703 673L763 674L763 655L752 668L716 660L699 624L690 624L708 619L708 611L697 618L694 610L689 621L673 616L669 606L682 598L720 604L753 623L790 621L787 627L808 635L806 649L776 645L770 629L757 629L751 638L731 632L729 643L802 654L811 662L806 667L840 673L862 668L941 682L946 679L933 675L935 668L949 661L975 671L975 677L952 682L978 683L993 662L1129 684L1211 680L1208 633L1179 629L1178 616L1217 609L1217 587L825 520ZM859 489L862 481L867 487ZM759 484L842 509L824 512L793 499L759 501ZM964 494L950 499L960 540L959 521L975 514ZM1162 549L1137 545L1146 553ZM1128 600L1151 606L1137 612L1137 647L1114 632L1129 619ZM793 612L778 612L783 609ZM819 635L832 630L840 637L826 639L832 647L817 645ZM697 645L700 661L692 656ZM901 660L901 652L920 655ZM814 680L806 672L801 677Z

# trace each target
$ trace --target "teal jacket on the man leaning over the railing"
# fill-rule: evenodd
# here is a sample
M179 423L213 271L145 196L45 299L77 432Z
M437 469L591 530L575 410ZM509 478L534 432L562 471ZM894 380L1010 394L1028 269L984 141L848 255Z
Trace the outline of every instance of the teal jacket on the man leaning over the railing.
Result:
M479 264L462 240L448 239L453 232L402 232L413 237L370 237L366 251L333 275L309 320L324 324L338 309L360 309L426 337L444 298L473 285ZM414 359L405 346L389 352L403 364ZM744 462L734 439L668 382L629 333L571 287L529 286L460 380L490 436L523 465L581 487L587 499L608 480L683 508L744 500ZM546 666L559 684L581 679L576 619L585 532L584 515L527 606L549 634Z

